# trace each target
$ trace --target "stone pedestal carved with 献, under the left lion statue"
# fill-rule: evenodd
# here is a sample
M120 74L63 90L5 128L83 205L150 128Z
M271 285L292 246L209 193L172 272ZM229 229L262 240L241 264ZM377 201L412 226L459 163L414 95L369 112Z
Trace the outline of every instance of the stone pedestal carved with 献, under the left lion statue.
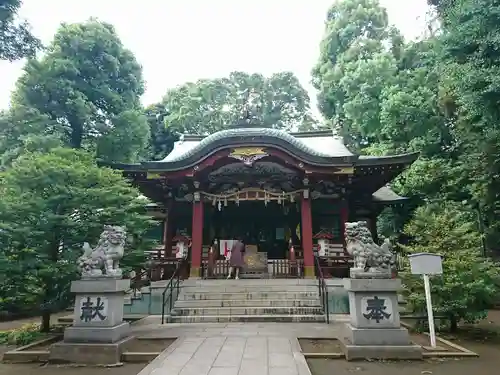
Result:
M73 326L64 340L54 344L50 360L58 362L113 364L120 362L123 345L131 338L123 321L125 292L130 280L93 278L73 281Z

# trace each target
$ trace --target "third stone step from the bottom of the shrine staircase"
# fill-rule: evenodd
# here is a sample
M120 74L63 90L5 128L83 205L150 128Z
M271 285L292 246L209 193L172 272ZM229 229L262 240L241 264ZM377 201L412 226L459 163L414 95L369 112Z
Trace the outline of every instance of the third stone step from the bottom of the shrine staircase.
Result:
M206 307L307 307L320 306L318 298L310 299L199 299L177 300L176 308L206 308Z

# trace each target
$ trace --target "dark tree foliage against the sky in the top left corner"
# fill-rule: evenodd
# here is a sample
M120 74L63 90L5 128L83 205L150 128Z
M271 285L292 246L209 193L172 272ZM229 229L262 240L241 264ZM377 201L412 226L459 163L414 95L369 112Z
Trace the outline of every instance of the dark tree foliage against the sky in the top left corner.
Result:
M32 57L42 47L27 22L18 19L21 0L0 0L0 60Z

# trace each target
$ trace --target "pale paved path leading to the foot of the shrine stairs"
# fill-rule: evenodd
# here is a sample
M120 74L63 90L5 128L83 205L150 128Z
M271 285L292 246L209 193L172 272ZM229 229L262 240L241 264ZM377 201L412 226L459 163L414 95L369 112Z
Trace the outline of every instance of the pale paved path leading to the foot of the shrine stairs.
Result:
M138 375L311 375L297 337L336 337L338 332L337 326L320 323L146 327L136 327L136 334L179 338Z

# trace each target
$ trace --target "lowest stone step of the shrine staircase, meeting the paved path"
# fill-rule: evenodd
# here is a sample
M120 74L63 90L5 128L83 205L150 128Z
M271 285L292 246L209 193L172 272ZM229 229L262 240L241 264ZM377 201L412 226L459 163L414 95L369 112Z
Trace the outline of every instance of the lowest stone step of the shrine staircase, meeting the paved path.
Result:
M325 322L324 315L195 315L172 316L171 323L230 323L230 322Z

